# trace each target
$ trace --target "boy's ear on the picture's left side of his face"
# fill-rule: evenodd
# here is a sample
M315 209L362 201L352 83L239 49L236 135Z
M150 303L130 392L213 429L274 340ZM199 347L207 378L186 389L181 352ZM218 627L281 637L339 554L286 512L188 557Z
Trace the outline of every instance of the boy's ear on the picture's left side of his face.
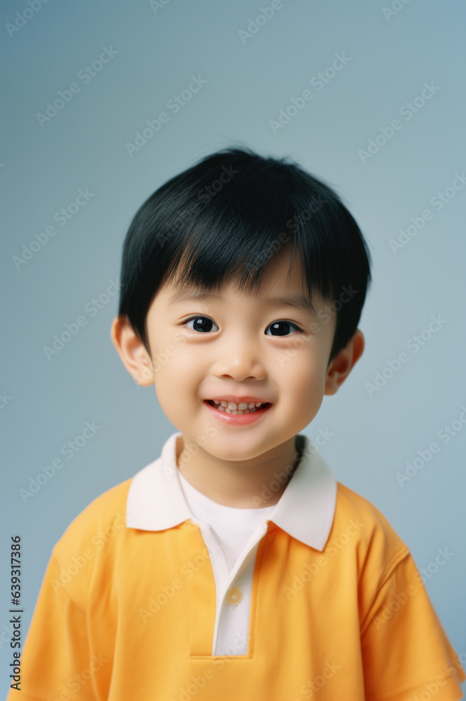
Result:
M151 357L130 322L128 320L122 322L116 316L111 324L110 337L123 365L138 385L142 387L153 385L154 374Z

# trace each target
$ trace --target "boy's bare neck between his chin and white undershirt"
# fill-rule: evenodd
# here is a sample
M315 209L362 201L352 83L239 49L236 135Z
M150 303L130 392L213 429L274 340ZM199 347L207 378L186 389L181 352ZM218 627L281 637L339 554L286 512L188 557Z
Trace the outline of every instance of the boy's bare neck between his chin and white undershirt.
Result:
M225 461L182 434L176 444L177 467L194 489L212 501L238 509L265 508L279 501L299 464L295 438L252 460ZM197 451L191 452L194 446ZM191 458L180 466L184 449Z

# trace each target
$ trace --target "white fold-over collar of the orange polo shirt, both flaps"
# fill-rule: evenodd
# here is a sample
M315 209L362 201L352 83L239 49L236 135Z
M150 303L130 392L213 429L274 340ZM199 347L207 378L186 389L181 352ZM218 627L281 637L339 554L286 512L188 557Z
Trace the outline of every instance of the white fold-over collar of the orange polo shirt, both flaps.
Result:
M172 433L160 457L132 478L126 505L128 528L164 531L194 518L177 474L179 436L178 431ZM315 445L302 433L296 436L296 447L301 445L301 461L266 520L301 543L323 550L334 521L336 479Z

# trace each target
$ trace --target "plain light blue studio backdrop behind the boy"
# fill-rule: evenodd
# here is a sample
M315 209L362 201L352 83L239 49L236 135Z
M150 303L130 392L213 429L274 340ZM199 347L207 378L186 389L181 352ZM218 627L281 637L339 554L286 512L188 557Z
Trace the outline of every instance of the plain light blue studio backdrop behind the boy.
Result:
M155 459L175 430L153 388L138 388L114 351L109 329L118 297L95 316L86 304L109 280L118 282L123 238L146 197L202 156L238 142L291 156L333 184L366 236L374 259L359 325L366 349L306 433L334 433L322 455L341 482L388 517L418 567L434 562L438 548L454 554L426 586L453 646L466 655L466 429L448 444L437 437L466 404L466 188L441 211L430 204L466 168L465 6L411 0L386 18L384 0L289 0L243 43L239 30L260 6L171 0L154 12L147 1L51 0L13 36L5 25L26 1L2 6L0 393L11 397L0 409L5 690L9 536L22 536L25 634L50 552L69 522ZM103 46L118 54L83 84L78 72ZM324 89L313 88L311 79L336 53L350 61ZM125 143L166 111L191 75L207 83L130 157ZM80 92L41 127L36 114L73 82ZM440 90L407 121L399 109L426 82ZM274 134L270 120L306 89L313 100ZM362 163L359 149L395 118L402 129ZM94 196L66 226L55 222L56 235L18 270L13 257L79 188ZM427 208L433 219L394 254L390 239ZM87 325L48 360L43 346L79 315ZM406 352L431 315L441 315L444 326L418 353L407 351L409 362L370 396L366 383ZM86 421L102 428L25 503L19 490ZM440 451L400 486L395 473L434 441Z

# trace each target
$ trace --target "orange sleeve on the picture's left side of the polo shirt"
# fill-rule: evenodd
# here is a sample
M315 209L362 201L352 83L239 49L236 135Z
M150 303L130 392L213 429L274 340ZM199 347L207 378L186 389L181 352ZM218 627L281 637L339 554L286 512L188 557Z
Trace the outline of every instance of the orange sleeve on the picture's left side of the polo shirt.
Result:
M60 580L60 566L50 557L20 658L20 692L6 701L96 701L86 615Z

